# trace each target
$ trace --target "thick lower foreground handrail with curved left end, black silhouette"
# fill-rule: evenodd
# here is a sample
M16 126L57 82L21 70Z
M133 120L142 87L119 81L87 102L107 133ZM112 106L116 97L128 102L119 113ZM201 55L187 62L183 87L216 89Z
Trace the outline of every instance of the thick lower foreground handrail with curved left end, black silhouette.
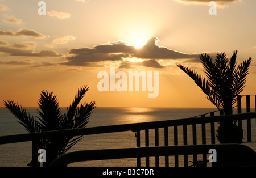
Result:
M166 155L192 155L192 154L208 154L210 149L224 153L225 156L240 156L240 160L235 161L239 164L249 164L247 166L256 166L256 152L248 146L240 144L214 144L214 145L183 145L183 146L159 146L159 147L133 147L126 149L104 149L104 150L84 150L69 152L55 159L49 166L59 167L67 166L74 162L83 162L88 160L106 160L106 159L124 159L137 158L147 156L166 156ZM236 151L236 155L230 154L232 150ZM242 163L241 158L243 159ZM218 156L217 156L218 159ZM233 160L232 160L233 161ZM222 163L223 164L223 163ZM234 164L234 162L229 162Z

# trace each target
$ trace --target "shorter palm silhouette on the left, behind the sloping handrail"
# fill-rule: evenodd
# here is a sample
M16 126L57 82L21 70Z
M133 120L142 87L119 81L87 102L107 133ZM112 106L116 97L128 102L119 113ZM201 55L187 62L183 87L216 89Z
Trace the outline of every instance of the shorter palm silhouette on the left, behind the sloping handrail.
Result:
M48 91L42 91L38 102L41 111L37 110L40 117L36 116L38 120L12 100L3 101L3 103L18 118L18 122L30 133L85 128L93 109L96 107L94 101L81 104L78 107L81 99L84 98L88 90L89 87L87 86L79 88L75 99L69 105L69 108L67 108L66 113L61 113L59 101L57 101L56 95L53 95L53 92L48 93ZM48 166L53 160L63 155L81 139L82 135L76 138L61 137L40 140L39 148L45 149L47 152L47 163L44 163L44 166Z

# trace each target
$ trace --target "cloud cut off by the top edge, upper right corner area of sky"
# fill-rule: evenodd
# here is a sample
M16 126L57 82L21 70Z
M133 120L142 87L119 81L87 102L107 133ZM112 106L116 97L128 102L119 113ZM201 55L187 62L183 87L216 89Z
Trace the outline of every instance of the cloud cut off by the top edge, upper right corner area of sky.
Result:
M175 0L177 2L180 3L185 3L185 4L192 4L192 5L208 5L209 4L209 0ZM217 5L219 5L220 7L226 7L227 3L230 2L238 2L238 1L242 1L242 0L214 0L214 2L217 3Z

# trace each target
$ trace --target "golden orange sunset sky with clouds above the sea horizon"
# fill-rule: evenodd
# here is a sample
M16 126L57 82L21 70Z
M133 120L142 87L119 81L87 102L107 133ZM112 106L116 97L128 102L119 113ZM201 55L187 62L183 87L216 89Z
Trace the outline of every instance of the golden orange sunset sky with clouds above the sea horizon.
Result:
M67 107L77 89L97 107L213 107L181 63L201 73L199 54L238 50L252 57L245 90L256 94L256 1L0 0L0 107L14 100L37 107L42 90ZM159 72L159 95L98 91L100 71ZM117 80L116 80L117 81Z

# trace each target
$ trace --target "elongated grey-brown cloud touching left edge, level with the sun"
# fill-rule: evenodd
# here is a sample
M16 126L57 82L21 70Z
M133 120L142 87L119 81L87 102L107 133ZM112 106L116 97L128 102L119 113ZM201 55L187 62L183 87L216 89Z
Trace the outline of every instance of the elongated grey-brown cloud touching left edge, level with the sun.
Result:
M31 29L26 29L26 28L19 29L17 32L13 32L11 30L9 31L0 30L0 36L30 36L30 37L40 38L40 39L46 37L39 32L36 32Z

